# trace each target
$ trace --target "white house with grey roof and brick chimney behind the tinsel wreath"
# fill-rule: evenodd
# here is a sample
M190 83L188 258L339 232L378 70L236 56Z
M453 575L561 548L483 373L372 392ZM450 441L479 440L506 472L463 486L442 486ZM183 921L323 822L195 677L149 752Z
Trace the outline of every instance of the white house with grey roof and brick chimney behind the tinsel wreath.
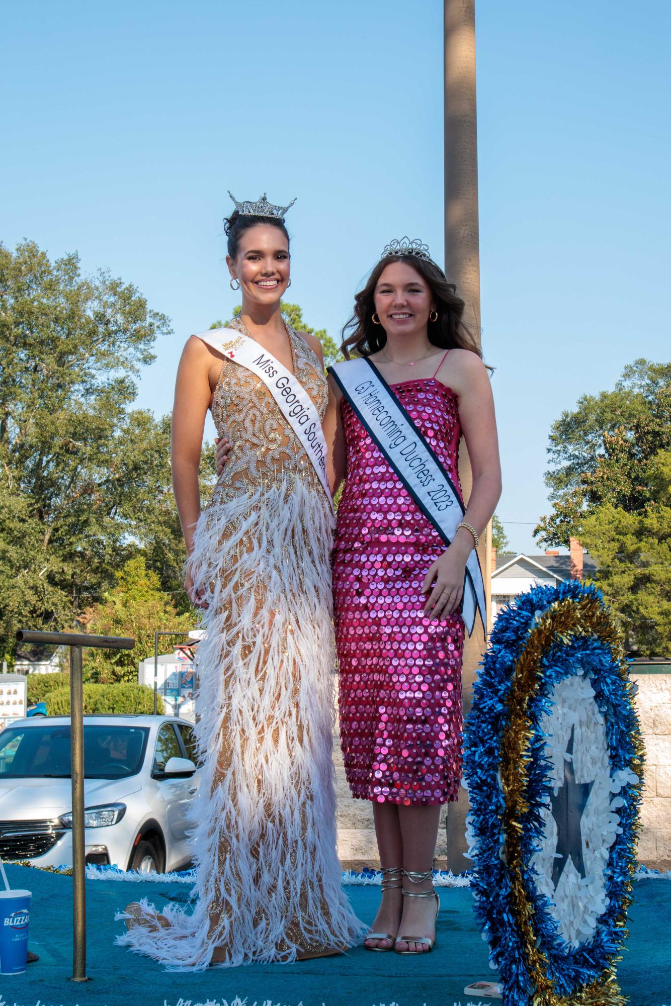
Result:
M548 550L544 555L497 555L492 550L492 625L497 612L509 605L522 591L538 584L556 586L565 579L582 579L597 568L597 563L582 545L570 539L570 551L560 555Z

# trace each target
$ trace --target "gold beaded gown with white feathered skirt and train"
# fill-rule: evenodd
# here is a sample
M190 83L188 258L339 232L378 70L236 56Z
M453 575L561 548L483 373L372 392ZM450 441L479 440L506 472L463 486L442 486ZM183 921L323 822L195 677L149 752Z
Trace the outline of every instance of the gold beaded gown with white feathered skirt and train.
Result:
M305 339L290 330L290 340L323 417L323 368ZM192 913L168 906L169 928L119 938L170 970L294 960L364 932L336 853L331 503L266 385L225 357L212 415L232 449L190 560L209 606L198 645L198 899Z

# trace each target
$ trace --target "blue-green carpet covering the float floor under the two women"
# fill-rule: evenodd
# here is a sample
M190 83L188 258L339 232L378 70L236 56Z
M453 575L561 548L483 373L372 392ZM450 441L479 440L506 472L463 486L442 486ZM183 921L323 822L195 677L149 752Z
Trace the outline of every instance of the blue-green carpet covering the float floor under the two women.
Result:
M210 1006L235 997L247 1006L466 1006L464 987L490 980L487 948L475 925L468 888L441 888L438 947L427 957L370 954L356 948L340 958L291 965L250 965L233 970L168 974L160 965L114 946L123 926L116 909L147 896L157 906L184 901L189 885L175 882L87 881L88 973L93 979L72 984L71 879L21 866L8 866L13 887L33 892L30 948L37 964L23 975L0 976L0 1002L8 1006ZM354 910L372 919L379 887L347 886ZM620 964L623 992L632 1006L671 1004L671 936L668 909L671 882L645 879L635 885L630 912L631 938ZM486 1002L495 1002L486 1000Z

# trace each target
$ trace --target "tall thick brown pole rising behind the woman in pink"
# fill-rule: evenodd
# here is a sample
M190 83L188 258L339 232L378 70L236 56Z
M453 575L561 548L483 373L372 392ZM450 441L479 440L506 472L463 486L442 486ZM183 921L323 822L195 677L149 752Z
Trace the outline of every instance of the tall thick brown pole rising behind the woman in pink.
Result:
M444 0L445 10L445 271L466 302L465 322L480 343L480 221L478 213L478 117L475 72L475 0ZM465 499L473 479L462 442L459 476ZM491 555L484 534L478 555L485 576L489 607ZM490 572L490 576L487 572ZM462 671L464 715L470 708L478 663L485 649L482 626L476 622L466 639ZM468 799L448 809L448 867L461 872L470 866L464 856Z

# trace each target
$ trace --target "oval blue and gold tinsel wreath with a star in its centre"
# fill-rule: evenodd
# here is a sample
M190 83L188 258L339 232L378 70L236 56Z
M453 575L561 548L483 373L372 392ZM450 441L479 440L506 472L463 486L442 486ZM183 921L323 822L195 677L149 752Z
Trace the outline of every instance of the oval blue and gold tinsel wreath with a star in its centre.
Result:
M520 595L496 619L465 731L478 923L510 1006L617 1006L643 742L600 592Z

